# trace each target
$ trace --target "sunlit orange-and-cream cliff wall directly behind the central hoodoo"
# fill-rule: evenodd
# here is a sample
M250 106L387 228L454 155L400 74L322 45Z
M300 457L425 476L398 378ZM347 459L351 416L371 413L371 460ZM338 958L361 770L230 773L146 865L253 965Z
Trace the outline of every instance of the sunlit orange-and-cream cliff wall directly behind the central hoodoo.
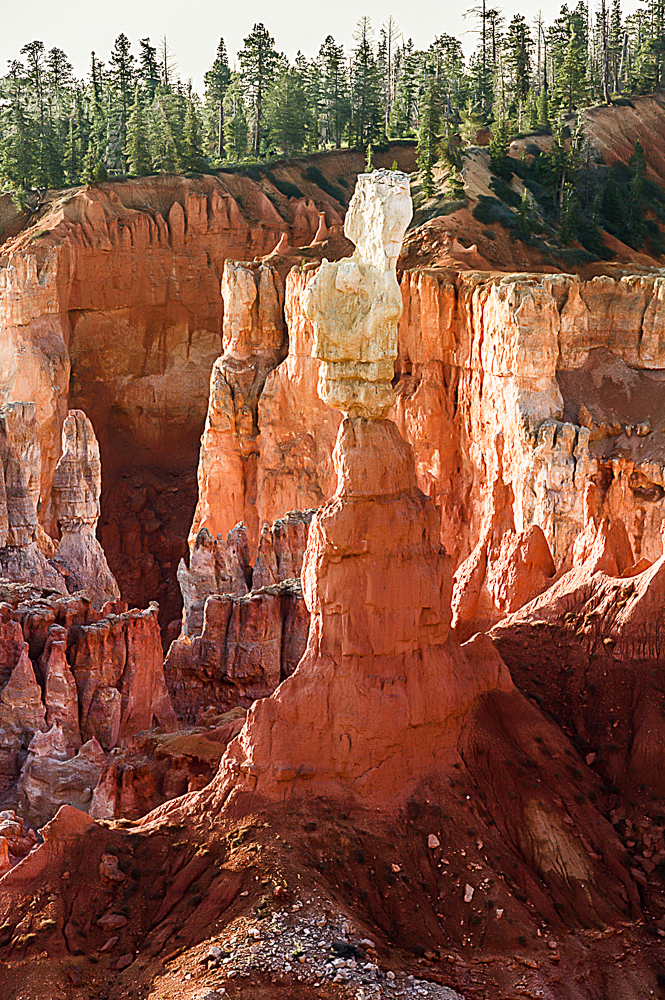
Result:
M303 309L311 280L311 271L294 269L286 281L289 351L258 399L255 480L244 508L206 476L212 459L202 443L199 504L213 533L319 506L333 491L339 418L316 392L319 362ZM623 519L634 561L658 558L663 279L432 269L405 272L401 288L391 416L413 446L418 485L439 508L455 565L487 533L488 519L495 528L501 521L497 537L537 526L554 561L544 550L536 557L533 586L542 589L584 526L588 483L596 485L595 513Z

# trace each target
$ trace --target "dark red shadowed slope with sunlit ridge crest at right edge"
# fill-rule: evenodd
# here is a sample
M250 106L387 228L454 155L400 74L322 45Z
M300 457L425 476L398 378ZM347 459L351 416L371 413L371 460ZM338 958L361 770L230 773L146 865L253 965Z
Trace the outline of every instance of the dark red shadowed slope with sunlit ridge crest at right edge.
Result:
M490 634L520 687L567 713L597 774L631 798L661 796L665 555L626 568L625 529L607 519L590 521L582 541L571 568Z

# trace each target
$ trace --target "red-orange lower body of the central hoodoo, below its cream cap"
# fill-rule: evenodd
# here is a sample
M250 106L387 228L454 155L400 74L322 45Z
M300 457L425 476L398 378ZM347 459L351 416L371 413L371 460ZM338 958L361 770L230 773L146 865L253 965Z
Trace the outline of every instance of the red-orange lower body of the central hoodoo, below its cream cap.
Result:
M480 691L511 686L500 659L484 647L467 657L449 637L436 511L395 425L345 419L335 464L303 567L307 650L250 709L222 762L227 790L390 798L420 772L423 746L455 742Z

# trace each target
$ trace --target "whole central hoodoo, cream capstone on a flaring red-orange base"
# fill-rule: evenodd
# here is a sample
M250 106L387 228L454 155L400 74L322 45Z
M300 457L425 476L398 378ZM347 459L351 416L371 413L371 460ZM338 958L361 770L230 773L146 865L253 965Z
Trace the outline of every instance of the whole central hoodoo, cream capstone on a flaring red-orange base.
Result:
M386 419L402 305L395 263L411 211L405 174L359 178L345 223L356 252L324 261L307 289L319 395L344 413L337 490L305 553L306 653L250 710L222 762L224 794L399 797L450 752L479 692L512 689L487 639L465 652L450 635L434 504Z

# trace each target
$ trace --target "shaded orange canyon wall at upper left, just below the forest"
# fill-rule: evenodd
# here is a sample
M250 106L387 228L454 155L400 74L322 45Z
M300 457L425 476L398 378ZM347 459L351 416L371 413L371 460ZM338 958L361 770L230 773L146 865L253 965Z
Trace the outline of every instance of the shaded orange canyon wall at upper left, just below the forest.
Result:
M413 169L414 155L413 144L395 144L378 159ZM306 246L322 218L334 232L363 154L315 162L315 171L294 162L251 177L117 179L47 192L32 218L11 205L0 214L0 403L35 403L40 521L56 533L62 424L81 409L99 439L99 534L111 571L130 604L159 601L162 625L180 611L175 571L222 350L224 261L261 257L283 237ZM282 193L287 183L300 197Z

